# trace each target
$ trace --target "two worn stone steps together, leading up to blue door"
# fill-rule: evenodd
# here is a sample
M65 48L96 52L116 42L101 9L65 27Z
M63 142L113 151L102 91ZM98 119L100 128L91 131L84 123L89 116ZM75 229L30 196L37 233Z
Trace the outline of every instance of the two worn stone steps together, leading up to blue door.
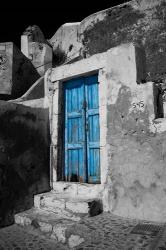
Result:
M32 227L32 230L66 244L70 241L66 234L70 227L84 217L101 212L102 203L98 198L51 191L35 195L34 207L16 214L15 223Z

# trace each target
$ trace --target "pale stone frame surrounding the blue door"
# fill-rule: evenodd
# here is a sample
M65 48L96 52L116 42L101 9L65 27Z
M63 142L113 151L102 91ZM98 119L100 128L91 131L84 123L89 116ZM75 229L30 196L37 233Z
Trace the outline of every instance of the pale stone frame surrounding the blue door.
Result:
M59 178L58 169L63 166L63 149L59 141L59 127L63 123L63 98L62 86L64 82L73 78L98 74L99 86L99 124L100 124L100 171L101 184L89 184L103 186L106 183L108 173L107 156L107 86L109 85L106 74L106 53L94 55L88 59L59 66L48 70L45 75L45 103L50 110L50 130L51 130L51 155L50 155L50 184L53 189L57 188L57 183L67 184L62 176ZM62 137L62 135L61 135ZM61 169L62 171L62 169ZM70 182L72 184L72 182ZM73 183L74 184L74 183ZM80 183L75 183L80 184ZM85 183L82 183L83 185ZM88 185L88 184L87 184Z

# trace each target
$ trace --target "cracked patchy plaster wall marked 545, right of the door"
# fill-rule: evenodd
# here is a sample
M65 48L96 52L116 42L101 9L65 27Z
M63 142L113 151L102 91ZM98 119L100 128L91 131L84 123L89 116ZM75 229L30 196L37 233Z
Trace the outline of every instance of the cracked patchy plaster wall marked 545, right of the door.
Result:
M108 58L108 175L104 191L108 193L103 200L108 206L105 210L117 215L163 222L165 119L155 119L154 83L137 84L135 50L124 45L113 50L111 60Z

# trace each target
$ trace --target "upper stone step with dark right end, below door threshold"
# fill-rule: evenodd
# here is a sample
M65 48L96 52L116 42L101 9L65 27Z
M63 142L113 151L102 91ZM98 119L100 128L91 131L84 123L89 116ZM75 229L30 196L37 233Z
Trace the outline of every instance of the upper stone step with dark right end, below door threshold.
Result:
M70 197L54 191L34 196L34 207L48 208L50 211L68 214L89 214L93 216L102 212L102 203L99 199L88 199L81 196ZM97 212L98 211L98 212ZM94 214L94 215L97 215Z

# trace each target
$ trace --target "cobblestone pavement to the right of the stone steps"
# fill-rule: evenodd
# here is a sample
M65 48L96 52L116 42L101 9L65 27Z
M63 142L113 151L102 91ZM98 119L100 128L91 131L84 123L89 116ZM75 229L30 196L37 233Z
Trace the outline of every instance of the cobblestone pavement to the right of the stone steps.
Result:
M77 250L166 250L166 231L157 236L131 233L138 223L105 213L77 223L70 229L70 235L77 234L84 239Z

